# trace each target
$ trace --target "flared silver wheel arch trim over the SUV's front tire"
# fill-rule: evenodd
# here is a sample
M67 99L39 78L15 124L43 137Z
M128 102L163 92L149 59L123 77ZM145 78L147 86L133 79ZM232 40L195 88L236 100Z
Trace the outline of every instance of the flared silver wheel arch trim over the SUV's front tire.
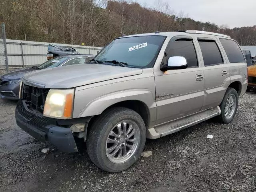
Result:
M96 98L86 105L79 114L79 117L99 115L106 108L118 102L127 100L138 100L143 102L150 111L150 119L154 120L156 118L156 102L152 92L147 89L122 90Z

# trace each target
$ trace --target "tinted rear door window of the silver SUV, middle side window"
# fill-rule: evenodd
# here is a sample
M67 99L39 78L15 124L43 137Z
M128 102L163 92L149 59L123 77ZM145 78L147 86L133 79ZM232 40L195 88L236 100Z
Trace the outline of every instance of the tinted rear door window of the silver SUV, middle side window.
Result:
M204 66L223 63L220 50L215 41L198 41L204 58Z

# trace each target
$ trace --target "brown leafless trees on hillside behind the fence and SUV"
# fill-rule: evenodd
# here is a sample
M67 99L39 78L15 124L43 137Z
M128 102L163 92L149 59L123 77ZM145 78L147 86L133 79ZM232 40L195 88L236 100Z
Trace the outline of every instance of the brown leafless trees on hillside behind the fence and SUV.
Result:
M122 34L204 30L227 34L241 46L256 45L256 26L230 29L174 14L156 0L145 8L131 0L2 0L0 22L9 39L105 46Z

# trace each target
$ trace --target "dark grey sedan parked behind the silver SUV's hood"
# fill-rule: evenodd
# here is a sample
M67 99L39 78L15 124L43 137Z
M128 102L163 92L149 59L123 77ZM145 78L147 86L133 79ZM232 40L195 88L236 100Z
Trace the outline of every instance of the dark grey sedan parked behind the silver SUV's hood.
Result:
M94 55L88 54L57 56L56 58L48 60L39 66L23 68L4 74L3 76L0 76L0 97L18 100L20 81L26 73L46 68L84 64L88 63L92 58L94 58Z

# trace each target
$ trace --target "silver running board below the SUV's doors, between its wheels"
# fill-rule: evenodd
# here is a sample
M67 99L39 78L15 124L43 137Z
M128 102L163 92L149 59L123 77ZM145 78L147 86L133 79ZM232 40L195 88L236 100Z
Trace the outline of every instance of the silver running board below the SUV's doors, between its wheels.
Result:
M188 128L205 120L208 120L212 117L220 115L220 107L217 106L212 109L208 109L202 112L198 112L196 114L192 114L190 116L186 116L184 118L180 118L178 120L174 120L172 122L168 122L166 124L162 124L159 126L155 126L147 130L147 138L156 139L160 138L182 129Z

